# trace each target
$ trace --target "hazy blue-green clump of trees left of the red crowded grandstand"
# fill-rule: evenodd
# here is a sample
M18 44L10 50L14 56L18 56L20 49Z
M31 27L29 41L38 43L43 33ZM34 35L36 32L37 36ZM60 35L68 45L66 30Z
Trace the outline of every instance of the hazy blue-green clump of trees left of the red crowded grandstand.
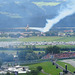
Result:
M25 60L37 60L44 56L45 53L35 53L33 50L22 50L18 52L18 58L21 61Z

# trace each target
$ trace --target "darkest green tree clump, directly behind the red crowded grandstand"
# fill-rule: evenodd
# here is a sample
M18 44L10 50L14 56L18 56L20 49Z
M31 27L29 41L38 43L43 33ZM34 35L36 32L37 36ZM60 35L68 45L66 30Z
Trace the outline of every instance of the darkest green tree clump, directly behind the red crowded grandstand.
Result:
M58 54L60 53L60 48L58 46L49 46L46 48L45 53Z

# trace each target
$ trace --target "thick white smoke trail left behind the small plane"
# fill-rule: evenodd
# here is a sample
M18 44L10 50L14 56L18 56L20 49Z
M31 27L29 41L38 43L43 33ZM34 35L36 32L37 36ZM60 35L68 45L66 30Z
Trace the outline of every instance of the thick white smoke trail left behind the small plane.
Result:
M47 32L49 31L53 25L55 25L56 23L58 23L61 19L72 15L75 13L75 1L74 0L67 0L66 1L66 7L61 8L61 10L58 12L58 15L51 20L47 20L47 24L44 28L36 28L34 27L33 29L35 30L39 30L41 32Z

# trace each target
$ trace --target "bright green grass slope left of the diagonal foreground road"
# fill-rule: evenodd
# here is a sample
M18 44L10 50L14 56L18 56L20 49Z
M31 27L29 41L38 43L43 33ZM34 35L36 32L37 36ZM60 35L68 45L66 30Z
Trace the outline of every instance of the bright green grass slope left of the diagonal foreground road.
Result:
M33 65L29 65L30 69L36 69L37 66L42 66L43 70L51 75L57 75L59 74L59 72L62 72L62 70L60 69L56 69L56 66L52 65L51 62L43 62L43 63L38 63L38 64L33 64ZM43 73L39 73L39 75L46 75Z

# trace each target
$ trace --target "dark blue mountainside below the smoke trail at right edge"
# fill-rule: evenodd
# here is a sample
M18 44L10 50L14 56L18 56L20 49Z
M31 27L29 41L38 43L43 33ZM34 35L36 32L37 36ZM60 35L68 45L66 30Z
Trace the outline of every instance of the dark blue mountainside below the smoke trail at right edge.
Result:
M70 15L54 25L54 27L75 27L75 14Z

